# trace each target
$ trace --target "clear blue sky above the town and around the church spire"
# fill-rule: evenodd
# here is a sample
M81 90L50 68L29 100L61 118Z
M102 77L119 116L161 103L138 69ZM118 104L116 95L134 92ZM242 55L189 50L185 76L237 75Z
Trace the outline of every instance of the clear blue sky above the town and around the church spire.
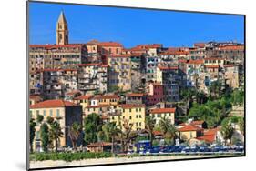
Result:
M29 3L30 44L56 44L56 21L64 11L69 43L117 41L132 47L160 43L191 46L195 42L244 42L241 15L212 15L88 5Z

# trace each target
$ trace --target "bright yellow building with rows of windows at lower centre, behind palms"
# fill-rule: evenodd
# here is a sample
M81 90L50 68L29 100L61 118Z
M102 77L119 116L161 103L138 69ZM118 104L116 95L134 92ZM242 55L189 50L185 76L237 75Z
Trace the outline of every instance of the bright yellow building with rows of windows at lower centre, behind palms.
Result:
M124 104L120 106L120 114L110 116L110 122L116 122L117 125L123 128L126 120L132 125L132 130L145 129L146 118L145 105Z

